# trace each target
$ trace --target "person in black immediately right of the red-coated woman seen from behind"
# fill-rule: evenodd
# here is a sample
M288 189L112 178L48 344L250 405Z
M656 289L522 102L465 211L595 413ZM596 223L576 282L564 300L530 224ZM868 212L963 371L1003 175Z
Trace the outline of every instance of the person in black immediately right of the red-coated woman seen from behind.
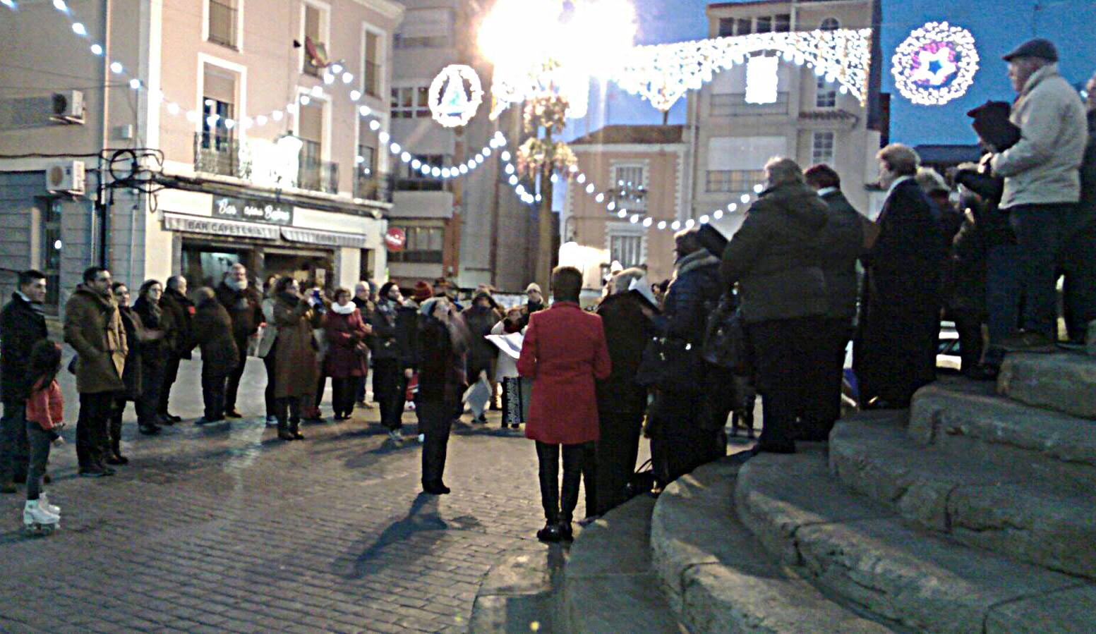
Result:
M596 382L600 437L594 459L583 461L587 516L605 515L627 502L625 487L639 456L647 388L636 382L636 373L654 325L643 314L642 300L628 291L637 279L646 284L642 269L621 270L613 278L613 293L597 306L613 372Z

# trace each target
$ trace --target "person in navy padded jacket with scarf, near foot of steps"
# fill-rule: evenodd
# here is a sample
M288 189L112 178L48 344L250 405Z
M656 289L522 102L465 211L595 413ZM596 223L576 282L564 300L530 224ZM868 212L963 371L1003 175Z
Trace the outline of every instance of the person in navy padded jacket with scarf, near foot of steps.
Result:
M644 313L652 318L658 335L686 348L687 357L683 358L686 367L674 372L677 387L661 385L651 406L651 459L654 475L663 486L718 458L718 433L722 431L721 427L701 428L698 416L707 374L700 348L708 314L723 291L719 258L701 246L696 229L678 232L674 243L676 274L666 291L663 312L655 315L646 309Z

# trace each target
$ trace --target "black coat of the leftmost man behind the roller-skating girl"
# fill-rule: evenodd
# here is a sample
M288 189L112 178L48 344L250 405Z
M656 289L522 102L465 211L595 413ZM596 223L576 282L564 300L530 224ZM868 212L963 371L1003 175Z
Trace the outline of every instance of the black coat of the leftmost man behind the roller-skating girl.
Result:
M47 336L45 315L13 292L11 301L0 311L0 395L5 403L30 396L31 349Z

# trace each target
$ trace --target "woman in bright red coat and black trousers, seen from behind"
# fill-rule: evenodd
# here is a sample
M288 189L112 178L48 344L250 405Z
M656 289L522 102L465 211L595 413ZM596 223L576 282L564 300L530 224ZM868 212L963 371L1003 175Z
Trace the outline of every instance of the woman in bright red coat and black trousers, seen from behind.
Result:
M582 274L560 266L552 272L556 302L530 315L517 371L533 379L533 400L525 437L536 440L540 464L540 502L545 528L537 539L571 539L571 517L579 504L582 454L597 440L597 394L594 380L609 377L613 366L602 318L579 308ZM560 500L559 454L563 448Z

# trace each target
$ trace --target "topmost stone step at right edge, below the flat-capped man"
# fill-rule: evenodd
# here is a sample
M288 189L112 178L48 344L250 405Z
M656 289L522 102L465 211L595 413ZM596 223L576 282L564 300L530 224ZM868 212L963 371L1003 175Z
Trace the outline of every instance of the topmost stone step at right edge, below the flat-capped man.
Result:
M1096 419L1096 358L1081 354L1008 355L997 392L1028 405Z

